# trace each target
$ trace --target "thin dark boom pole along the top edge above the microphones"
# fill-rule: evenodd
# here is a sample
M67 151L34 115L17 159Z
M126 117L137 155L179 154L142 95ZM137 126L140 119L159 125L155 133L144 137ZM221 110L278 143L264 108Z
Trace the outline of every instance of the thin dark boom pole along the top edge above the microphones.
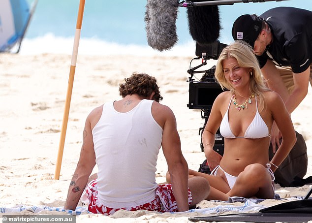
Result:
M200 1L200 2L191 2L185 1L179 3L179 7L194 7L194 6L203 6L203 5L223 5L223 4L234 4L234 3L257 3L265 1L285 1L285 0L211 0L211 1Z

